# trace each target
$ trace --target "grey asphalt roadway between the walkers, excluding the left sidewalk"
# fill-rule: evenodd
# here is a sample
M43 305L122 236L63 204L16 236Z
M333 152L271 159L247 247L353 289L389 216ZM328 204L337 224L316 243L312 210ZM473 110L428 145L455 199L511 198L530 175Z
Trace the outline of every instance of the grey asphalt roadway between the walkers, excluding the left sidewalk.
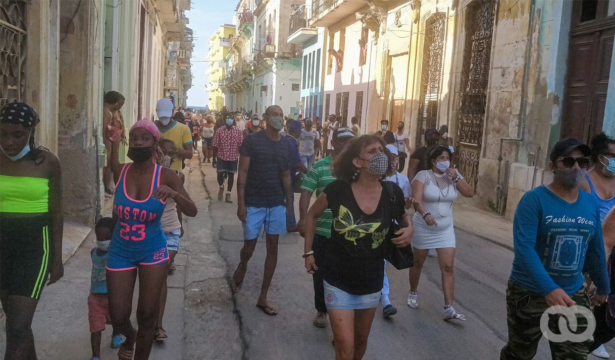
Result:
M197 164L198 160L192 161L195 168L199 168ZM208 354L207 358L215 356L216 359L333 358L330 327L317 329L312 326L315 313L312 280L303 267L303 238L299 235L280 237L278 265L269 292L270 301L280 308L278 316L266 316L255 307L262 280L264 240L258 240L242 292L231 295L229 283L239 261L242 228L235 215L236 204L218 202L216 198L218 186L215 170L210 164L202 164L202 170L205 175L204 186L211 192L213 199L207 212L207 222L212 226L201 231L203 235L212 237L205 241L213 241L215 244L210 245L211 248L215 246L218 250L218 254L210 254L208 258L213 260L215 270L210 270L210 273L216 280L210 278L208 281L219 288L210 293L207 289L200 291L194 287L194 292L201 294L199 299L204 302L211 299L216 301L215 305L205 305L205 308L213 307L215 310L203 310L203 320L215 319L215 311L218 311L220 314L226 313L232 321L224 319L223 324L198 325L213 331L199 333L205 336L201 338L205 340L202 343L193 339L188 354L194 357L188 356L188 359L200 358L201 354ZM194 191L196 183L192 179L201 174L196 170L192 172L191 191ZM200 203L200 206L204 204ZM191 221L188 220L188 224ZM443 297L437 259L427 260L419 287L418 309L405 305L409 288L407 271L387 267L391 301L399 312L391 319L384 319L381 309L378 310L365 359L499 358L499 351L507 337L505 294L513 254L508 249L470 233L458 230L456 235L458 254L455 264L455 306L467 316L467 321L449 323L442 320ZM193 256L189 254L188 273L191 273ZM221 275L221 272L224 274ZM220 276L224 276L224 281ZM199 306L192 301L188 304L188 312L192 313L190 309ZM195 315L199 315L198 311ZM223 349L219 348L220 344L223 344ZM550 358L545 340L542 340L536 358Z

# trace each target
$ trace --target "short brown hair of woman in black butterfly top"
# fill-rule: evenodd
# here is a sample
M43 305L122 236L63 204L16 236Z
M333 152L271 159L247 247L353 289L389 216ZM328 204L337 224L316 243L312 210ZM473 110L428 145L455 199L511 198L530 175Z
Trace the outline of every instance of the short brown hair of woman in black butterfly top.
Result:
M361 151L366 146L369 146L373 143L379 143L383 147L383 152L386 154L387 158L389 158L389 170L384 176L390 176L395 173L394 168L394 157L393 154L386 148L386 143L381 136L376 135L363 135L359 136L359 138L351 139L341 154L336 155L333 158L333 165L331 166L331 171L333 172L333 176L335 176L338 180L347 182L350 184L351 182L357 181L359 178L352 178L355 173L357 173L357 166L354 166L352 160L359 157ZM384 178L383 176L383 178Z

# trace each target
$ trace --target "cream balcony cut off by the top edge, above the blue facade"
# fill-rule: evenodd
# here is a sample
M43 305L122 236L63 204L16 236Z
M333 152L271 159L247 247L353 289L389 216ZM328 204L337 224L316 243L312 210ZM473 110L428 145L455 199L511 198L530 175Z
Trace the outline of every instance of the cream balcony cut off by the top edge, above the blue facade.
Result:
M328 28L347 17L355 17L355 12L367 7L364 0L312 0L310 26Z

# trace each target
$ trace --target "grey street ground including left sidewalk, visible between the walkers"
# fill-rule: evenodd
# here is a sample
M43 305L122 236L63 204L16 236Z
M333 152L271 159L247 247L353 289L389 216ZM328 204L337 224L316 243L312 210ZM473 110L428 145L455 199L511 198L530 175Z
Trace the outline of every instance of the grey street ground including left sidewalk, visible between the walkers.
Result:
M280 313L266 316L255 307L262 280L264 241L259 240L256 246L242 291L232 294L230 279L243 242L236 203L218 202L211 164L200 163L195 156L189 165L192 171L186 168L186 182L199 214L185 219L186 235L176 258L177 270L169 276L164 321L169 340L154 344L151 359L333 358L330 326L318 329L312 325L312 279L306 275L301 259L303 238L295 233L280 238L276 275L269 292L269 300ZM499 358L507 336L504 303L512 251L462 230L456 233L456 308L467 316L467 321L442 321L437 259L426 262L418 309L406 305L407 271L387 267L391 301L399 312L384 319L378 309L365 359ZM44 289L34 316L40 359L90 357L86 299L89 251L94 246L90 234L66 262L65 278ZM134 312L136 302L133 306ZM135 320L133 323L136 326ZM108 326L103 334L102 359L116 358L116 351L109 348L110 335ZM607 349L615 351L614 346ZM3 352L2 338L0 353ZM542 340L536 359L548 358L548 344Z

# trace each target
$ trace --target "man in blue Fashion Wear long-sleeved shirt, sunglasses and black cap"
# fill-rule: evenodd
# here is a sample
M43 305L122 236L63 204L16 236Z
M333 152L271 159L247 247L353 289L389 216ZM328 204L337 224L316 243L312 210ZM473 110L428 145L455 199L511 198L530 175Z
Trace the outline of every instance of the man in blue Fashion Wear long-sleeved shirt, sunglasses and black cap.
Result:
M501 360L534 358L542 337L540 319L547 308L589 308L583 291L584 264L598 289L594 303L604 303L610 292L600 211L590 194L579 191L589 154L589 147L577 139L558 141L550 154L553 181L528 191L517 206L515 259L506 289L509 339ZM582 334L587 318L578 311L575 315L574 332ZM559 320L560 315L549 315L549 328L555 334ZM553 359L585 360L592 343L590 337L549 345Z

